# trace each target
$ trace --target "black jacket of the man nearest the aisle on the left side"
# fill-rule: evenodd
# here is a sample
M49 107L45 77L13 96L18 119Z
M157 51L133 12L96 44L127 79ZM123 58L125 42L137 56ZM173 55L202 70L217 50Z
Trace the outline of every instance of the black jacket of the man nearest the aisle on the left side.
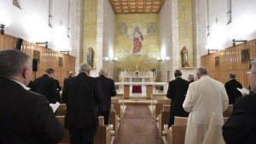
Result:
M111 97L116 95L113 79L101 75L97 78L102 87L102 103L98 105L99 111L110 111Z

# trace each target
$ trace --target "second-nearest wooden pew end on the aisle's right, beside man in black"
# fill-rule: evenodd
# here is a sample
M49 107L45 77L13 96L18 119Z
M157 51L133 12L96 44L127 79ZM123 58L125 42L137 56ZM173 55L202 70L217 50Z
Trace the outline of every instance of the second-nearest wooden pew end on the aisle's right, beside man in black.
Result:
M160 134L162 134L162 130L164 130L164 125L169 124L170 107L171 105L164 105L163 110L160 112L158 121Z

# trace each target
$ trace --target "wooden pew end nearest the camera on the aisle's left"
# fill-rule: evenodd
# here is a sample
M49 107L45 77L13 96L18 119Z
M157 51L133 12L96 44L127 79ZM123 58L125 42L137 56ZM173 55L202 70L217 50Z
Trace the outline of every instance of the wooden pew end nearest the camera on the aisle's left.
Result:
M112 139L111 130L104 125L104 118L99 117L99 126L94 137L94 144L110 144Z

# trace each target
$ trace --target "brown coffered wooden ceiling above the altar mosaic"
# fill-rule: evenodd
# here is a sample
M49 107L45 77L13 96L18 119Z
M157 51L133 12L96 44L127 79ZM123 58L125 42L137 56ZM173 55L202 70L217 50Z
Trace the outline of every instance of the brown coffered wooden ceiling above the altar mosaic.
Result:
M165 0L108 0L115 14L158 14Z

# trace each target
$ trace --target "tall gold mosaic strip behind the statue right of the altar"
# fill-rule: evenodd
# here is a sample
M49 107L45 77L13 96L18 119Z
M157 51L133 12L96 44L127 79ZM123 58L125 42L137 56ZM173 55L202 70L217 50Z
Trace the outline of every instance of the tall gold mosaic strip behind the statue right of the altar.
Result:
M189 51L189 65L194 66L194 50L193 50L193 18L192 18L192 0L177 0L178 14L178 49L179 53L184 46ZM180 64L181 56L179 56Z

